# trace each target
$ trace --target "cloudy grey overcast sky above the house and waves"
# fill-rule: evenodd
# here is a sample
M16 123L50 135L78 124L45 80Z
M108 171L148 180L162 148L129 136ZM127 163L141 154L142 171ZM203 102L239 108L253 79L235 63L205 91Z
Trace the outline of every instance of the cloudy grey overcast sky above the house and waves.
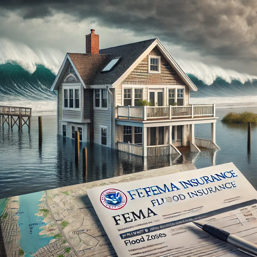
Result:
M256 0L0 1L0 61L56 73L92 28L100 48L158 37L198 77L217 67L257 76Z

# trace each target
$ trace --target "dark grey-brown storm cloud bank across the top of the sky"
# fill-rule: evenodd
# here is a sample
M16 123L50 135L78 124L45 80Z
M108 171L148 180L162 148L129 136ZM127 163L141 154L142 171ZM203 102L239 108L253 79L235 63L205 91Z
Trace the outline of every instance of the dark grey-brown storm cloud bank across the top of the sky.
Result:
M78 21L92 17L102 26L159 37L202 56L257 61L256 0L1 1L1 8L24 19L53 12Z

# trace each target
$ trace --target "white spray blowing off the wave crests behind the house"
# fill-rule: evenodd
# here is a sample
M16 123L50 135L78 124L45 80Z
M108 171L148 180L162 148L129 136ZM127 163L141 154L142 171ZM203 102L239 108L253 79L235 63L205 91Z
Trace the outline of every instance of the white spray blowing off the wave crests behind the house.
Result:
M64 53L57 49L31 49L26 44L0 37L0 64L10 61L17 62L30 73L36 70L37 64L42 64L54 74L57 74L63 59ZM257 79L257 76L217 66L209 66L203 62L184 59L177 59L177 61L187 74L194 75L208 85L212 84L217 77L224 79L228 83L231 83L233 79L237 79L241 83Z

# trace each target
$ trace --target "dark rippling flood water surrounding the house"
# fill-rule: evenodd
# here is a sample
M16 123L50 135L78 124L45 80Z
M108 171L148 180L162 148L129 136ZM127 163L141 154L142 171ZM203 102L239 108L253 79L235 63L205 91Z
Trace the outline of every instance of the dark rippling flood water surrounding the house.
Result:
M38 140L38 118L31 130L21 133L15 125L0 127L0 198L67 185L111 178L128 173L180 163L197 168L233 162L257 189L257 127L252 125L251 149L247 146L247 125L227 125L220 120L229 111L254 111L257 107L216 109L216 143L221 150L188 152L177 157L138 157L104 146L80 143L80 161L74 161L74 140L57 135L56 116L42 116L43 140ZM195 125L195 137L210 139L210 124ZM88 172L82 171L82 148L87 147Z

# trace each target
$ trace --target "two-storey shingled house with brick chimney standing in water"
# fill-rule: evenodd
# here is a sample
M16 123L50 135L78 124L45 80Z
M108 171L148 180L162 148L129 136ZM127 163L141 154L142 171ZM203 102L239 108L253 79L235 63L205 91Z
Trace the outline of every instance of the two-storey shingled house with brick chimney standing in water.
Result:
M51 90L57 92L58 133L141 156L180 153L188 146L218 149L215 105L190 105L197 88L159 39L99 50L86 35L86 53L67 53ZM136 106L147 100L152 106ZM195 124L211 124L211 139Z

